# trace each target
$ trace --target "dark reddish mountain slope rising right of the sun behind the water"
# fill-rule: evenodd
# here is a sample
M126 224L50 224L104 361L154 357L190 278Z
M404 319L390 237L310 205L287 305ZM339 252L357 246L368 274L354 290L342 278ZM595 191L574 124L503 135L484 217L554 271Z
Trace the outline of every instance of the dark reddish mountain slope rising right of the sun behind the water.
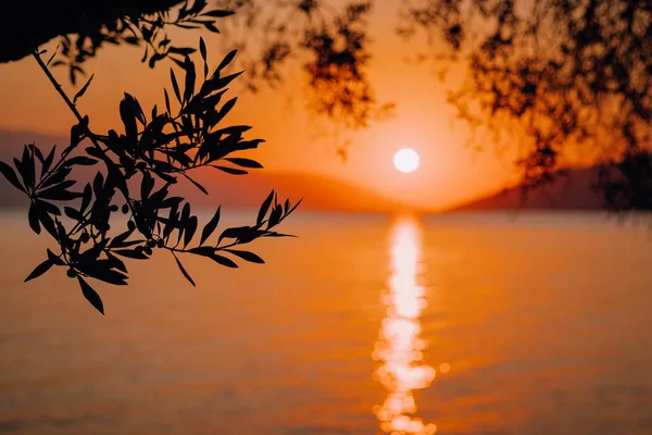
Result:
M594 167L567 170L568 176L559 176L549 185L529 190L524 198L522 186L514 186L493 195L473 200L448 211L484 210L600 210L603 198L591 190Z

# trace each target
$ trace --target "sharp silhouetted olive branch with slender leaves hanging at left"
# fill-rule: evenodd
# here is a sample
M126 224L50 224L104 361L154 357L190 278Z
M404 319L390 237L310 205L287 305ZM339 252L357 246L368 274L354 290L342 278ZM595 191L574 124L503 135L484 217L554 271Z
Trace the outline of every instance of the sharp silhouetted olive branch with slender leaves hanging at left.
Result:
M249 126L222 126L236 102L235 98L224 99L227 86L239 75L224 74L236 52L210 73L203 40L200 51L203 67L199 74L188 55L179 62L183 73L178 77L171 69L172 96L164 89L164 110L154 105L146 113L135 97L125 94L120 103L124 133L111 129L105 135L93 133L88 116L82 116L75 107L90 79L71 100L41 60L42 53L34 54L79 122L71 128L70 144L61 153L55 147L45 153L28 145L22 157L13 160L13 167L0 162L2 175L30 199L32 229L37 234L45 231L60 246L60 252L47 251L47 259L26 281L52 266L66 268L86 299L103 313L102 300L87 279L126 285L127 260L147 260L155 250L170 251L195 285L179 260L181 254L205 257L227 268L237 268L235 260L263 263L256 254L237 248L260 237L287 236L275 228L299 203L279 203L274 191L261 206L255 223L225 228L217 237L212 236L220 223L220 208L200 228L190 203L171 192L185 179L208 194L191 177L200 167L229 174L262 167L233 154L254 149L263 140L244 139ZM100 169L91 181L77 187L72 175L77 166ZM115 216L121 212L128 221L126 228L117 229Z

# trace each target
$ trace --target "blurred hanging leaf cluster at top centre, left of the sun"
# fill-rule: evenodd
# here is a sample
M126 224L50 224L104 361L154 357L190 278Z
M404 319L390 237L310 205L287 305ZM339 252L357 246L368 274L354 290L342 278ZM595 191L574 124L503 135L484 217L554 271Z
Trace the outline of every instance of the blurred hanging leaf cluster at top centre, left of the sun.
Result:
M241 65L250 90L283 83L285 67L298 62L308 75L314 113L347 128L366 127L372 120L391 115L393 109L378 100L366 74L371 59L367 17L373 1L333 3L217 1L220 8L236 12L224 24L224 42L249 54Z

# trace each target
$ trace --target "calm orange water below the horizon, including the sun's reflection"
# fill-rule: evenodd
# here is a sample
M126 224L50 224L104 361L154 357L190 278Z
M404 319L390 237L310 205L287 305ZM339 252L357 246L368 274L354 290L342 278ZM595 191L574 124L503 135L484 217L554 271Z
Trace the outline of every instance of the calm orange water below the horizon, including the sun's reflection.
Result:
M652 434L645 229L303 213L198 288L135 262L102 318L1 222L0 433Z

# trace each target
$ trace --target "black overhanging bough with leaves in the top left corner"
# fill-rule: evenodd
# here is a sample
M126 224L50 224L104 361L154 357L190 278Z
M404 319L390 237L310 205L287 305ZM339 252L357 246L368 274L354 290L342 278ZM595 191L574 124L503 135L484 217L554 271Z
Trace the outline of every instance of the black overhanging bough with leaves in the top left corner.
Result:
M12 2L12 16L22 16L21 12L29 12L25 10L28 7L35 9L35 5L29 3ZM206 0L112 0L99 3L83 4L75 0L67 0L62 4L39 3L36 8L38 14L29 14L29 34L13 48L3 48L0 51L0 61L27 55L40 44L61 36L60 50L50 62L52 66L67 67L73 84L79 73L84 74L83 64L108 44L143 47L142 62L147 62L151 67L166 58L181 65L184 58L193 53L196 49L176 46L168 37L167 29L206 28L218 33L216 18L233 14L233 11L210 8ZM52 20L52 16L59 20ZM24 35L26 27L17 27L20 23L22 22L10 23L2 33Z

